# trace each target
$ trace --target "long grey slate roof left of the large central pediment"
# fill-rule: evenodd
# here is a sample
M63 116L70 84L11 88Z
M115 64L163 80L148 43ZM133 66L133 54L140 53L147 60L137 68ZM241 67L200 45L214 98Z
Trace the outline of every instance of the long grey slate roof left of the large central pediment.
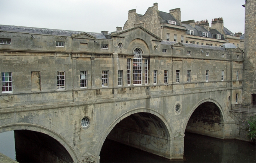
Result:
M15 25L0 25L0 31L45 34L45 35L54 35L54 36L72 36L75 34L83 33L80 31L23 27L23 26L15 26ZM94 33L94 32L86 32L86 33L89 35L92 35L96 39L107 39L102 33Z

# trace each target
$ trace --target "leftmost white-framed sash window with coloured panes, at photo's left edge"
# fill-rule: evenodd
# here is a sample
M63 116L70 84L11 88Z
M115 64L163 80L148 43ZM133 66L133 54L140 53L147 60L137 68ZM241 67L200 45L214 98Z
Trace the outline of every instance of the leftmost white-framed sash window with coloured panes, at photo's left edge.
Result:
M12 93L12 72L2 72L2 93Z

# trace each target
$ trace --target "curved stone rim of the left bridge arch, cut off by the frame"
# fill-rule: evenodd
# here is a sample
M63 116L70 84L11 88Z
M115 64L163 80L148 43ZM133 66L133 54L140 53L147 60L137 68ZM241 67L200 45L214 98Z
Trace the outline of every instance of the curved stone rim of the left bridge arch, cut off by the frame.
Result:
M0 127L0 133L6 132L6 131L14 131L14 130L29 130L29 131L36 131L43 134L46 134L53 139L57 140L70 154L71 158L74 162L78 162L78 158L76 155L76 152L71 147L71 145L58 133L49 130L43 126L36 125L36 124L26 124L26 123L17 123L17 124L8 124Z

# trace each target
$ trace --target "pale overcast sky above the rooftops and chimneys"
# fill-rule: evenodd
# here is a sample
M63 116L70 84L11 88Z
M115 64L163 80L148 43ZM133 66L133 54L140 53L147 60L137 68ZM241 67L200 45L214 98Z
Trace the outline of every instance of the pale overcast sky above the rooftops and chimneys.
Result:
M143 14L181 9L181 21L222 17L231 32L244 33L244 0L0 0L0 24L84 32L116 31L128 11Z

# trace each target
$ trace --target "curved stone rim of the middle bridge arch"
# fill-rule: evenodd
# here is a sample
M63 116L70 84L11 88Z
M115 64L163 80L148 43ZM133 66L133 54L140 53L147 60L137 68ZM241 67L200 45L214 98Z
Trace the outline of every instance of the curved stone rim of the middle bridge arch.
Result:
M162 115L161 113L157 112L156 110L153 110L153 109L150 109L150 108L136 108L136 109L129 110L129 111L125 112L124 114L122 114L121 116L116 118L116 120L114 122L112 122L112 124L109 125L109 127L107 128L107 130L104 132L103 136L100 139L100 142L98 144L97 151L96 151L96 156L100 156L100 151L101 151L101 148L103 146L103 143L105 142L109 133L114 129L116 124L121 122L124 118L127 118L128 116L131 116L131 115L135 115L136 113L138 113L138 114L147 113L147 114L151 114L151 115L155 116L156 118L158 118L158 120L161 121L163 127L167 131L166 132L167 133L166 137L168 137L168 139L170 140L170 135L171 135L172 129L169 126L169 124L167 123L167 120L164 117L164 115Z

